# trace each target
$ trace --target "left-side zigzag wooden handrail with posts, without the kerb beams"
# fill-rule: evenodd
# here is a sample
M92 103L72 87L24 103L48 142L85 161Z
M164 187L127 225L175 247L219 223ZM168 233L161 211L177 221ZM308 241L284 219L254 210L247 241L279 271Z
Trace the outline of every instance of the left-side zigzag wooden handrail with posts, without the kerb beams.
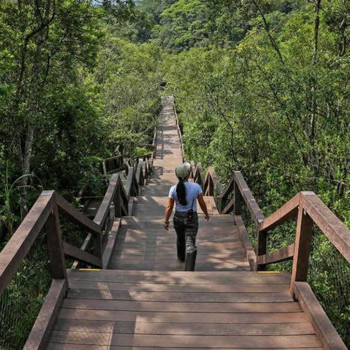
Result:
M118 193L121 202L123 202L123 211L124 214L127 215L129 198L131 195L138 195L139 184L143 184L144 178L147 177L148 168L149 164L146 164L144 173L142 164L140 163L137 177L135 176L133 168L129 168L127 190L125 190L120 176L112 175L104 199L93 221L87 218L78 209L74 208L55 191L43 191L19 228L0 252L0 294L18 270L21 262L25 259L39 232L43 228L47 231L48 241L51 243L49 244L49 255L51 272L54 278L66 277L64 261L61 261L63 253L82 261L84 261L85 257L86 260L88 260L86 262L100 265L101 257L95 257L90 253L84 252L90 239L88 239L88 241L85 240L83 245L84 249L73 247L69 243L63 242L59 225L58 209L89 231L89 238L94 235L101 236L111 204L113 201L116 201L116 194ZM69 250L69 252L67 250Z

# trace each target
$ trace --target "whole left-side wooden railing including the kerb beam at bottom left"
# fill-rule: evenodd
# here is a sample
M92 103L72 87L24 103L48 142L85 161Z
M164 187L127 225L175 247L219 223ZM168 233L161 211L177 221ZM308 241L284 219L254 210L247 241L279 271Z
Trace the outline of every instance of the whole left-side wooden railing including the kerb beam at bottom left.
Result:
M33 329L27 339L25 349L40 349L45 346L58 309L68 290L65 256L72 257L78 261L84 261L92 266L101 268L108 267L112 248L117 238L117 231L121 224L120 217L123 214L128 215L130 197L139 194L139 186L145 184L149 169L153 165L153 157L156 149L156 128L152 148L152 159L138 163L136 172L134 172L133 168L129 167L127 162L125 163L128 173L126 190L119 174L111 176L106 194L103 197L102 203L93 221L87 218L78 209L74 208L55 191L43 191L19 228L0 252L1 294L18 271L39 233L43 229L46 233L52 283ZM103 161L105 174L107 173L106 161L115 159L121 160L124 164L125 160L120 156L105 159ZM112 203L114 204L115 211L113 225L111 225L110 220L108 220ZM82 228L89 231L82 247L78 248L63 241L58 209L74 222L78 223ZM115 219L116 217L118 217L118 219ZM107 242L105 250L102 251L102 234L104 230L106 231L105 237ZM97 251L97 254L85 251L91 240L96 240L96 242L94 242L96 243L94 249ZM78 261L73 263L72 268L77 266Z

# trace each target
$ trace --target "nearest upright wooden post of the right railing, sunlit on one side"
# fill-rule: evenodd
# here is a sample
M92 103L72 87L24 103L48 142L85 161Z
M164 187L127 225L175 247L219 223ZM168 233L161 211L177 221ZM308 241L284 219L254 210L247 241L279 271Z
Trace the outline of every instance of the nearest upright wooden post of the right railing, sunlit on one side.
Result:
M292 276L290 279L290 292L293 294L294 282L304 282L307 278L309 266L309 255L311 246L311 235L313 229L313 220L303 209L303 194L300 196L299 210L296 226L294 258Z

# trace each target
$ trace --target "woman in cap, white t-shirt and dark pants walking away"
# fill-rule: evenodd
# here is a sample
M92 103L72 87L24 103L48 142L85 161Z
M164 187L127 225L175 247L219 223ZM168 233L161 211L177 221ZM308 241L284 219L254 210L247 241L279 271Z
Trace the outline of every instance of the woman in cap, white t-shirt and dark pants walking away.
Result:
M207 205L203 199L203 191L198 183L189 182L191 166L183 163L176 167L175 174L179 182L169 191L168 205L165 212L164 228L169 230L169 218L176 203L174 229L177 236L177 258L185 261L185 271L194 271L198 232L197 199L204 212L205 222L209 220Z

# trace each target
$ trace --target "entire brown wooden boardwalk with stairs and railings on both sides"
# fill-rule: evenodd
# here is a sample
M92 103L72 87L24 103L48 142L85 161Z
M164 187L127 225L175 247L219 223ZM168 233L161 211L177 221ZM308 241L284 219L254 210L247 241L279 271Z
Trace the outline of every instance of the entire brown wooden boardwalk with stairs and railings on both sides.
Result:
M154 146L151 159L128 167L126 181L112 175L92 221L57 193L44 192L0 253L1 293L38 232L48 233L52 285L25 349L346 349L306 283L314 224L350 262L343 223L312 192L265 218L240 172L223 187L213 168L205 176L191 162L191 181L203 187L210 221L198 211L196 271L185 272L175 232L162 227L174 168L184 158L172 98L163 103ZM257 224L257 253L239 203ZM90 232L82 247L62 241L58 211ZM267 253L268 232L294 217L295 244ZM66 270L64 256L98 268ZM292 274L262 271L286 259L293 259Z

